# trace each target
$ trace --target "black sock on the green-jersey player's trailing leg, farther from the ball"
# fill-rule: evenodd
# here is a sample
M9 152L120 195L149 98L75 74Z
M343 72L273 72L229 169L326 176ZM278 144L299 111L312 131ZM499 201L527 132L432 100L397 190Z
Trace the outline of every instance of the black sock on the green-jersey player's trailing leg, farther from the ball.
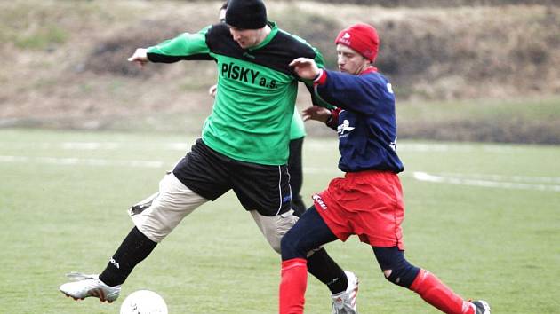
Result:
M346 291L348 279L340 266L334 262L324 248L308 257L308 271L323 282L332 294Z

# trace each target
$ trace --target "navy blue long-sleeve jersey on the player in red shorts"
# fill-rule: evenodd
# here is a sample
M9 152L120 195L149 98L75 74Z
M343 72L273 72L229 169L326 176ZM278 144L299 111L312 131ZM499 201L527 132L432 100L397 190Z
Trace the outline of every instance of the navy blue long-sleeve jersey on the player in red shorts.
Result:
M360 75L324 70L316 94L340 107L329 123L339 135L340 170L404 170L396 154L395 95L375 67Z

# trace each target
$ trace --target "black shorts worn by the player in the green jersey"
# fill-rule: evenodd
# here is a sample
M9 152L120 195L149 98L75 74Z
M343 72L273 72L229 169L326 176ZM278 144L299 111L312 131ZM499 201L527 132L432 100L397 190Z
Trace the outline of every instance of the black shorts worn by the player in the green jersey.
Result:
M268 166L236 161L196 140L191 151L175 166L182 184L208 200L233 190L246 210L276 216L291 209L292 192L286 165Z

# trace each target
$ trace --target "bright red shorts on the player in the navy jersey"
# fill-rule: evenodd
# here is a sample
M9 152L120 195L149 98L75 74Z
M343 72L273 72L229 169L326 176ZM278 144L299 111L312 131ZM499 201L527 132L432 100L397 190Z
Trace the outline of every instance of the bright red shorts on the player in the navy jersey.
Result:
M337 177L313 195L317 212L332 233L346 241L352 234L373 247L404 250L403 188L388 171L361 171Z

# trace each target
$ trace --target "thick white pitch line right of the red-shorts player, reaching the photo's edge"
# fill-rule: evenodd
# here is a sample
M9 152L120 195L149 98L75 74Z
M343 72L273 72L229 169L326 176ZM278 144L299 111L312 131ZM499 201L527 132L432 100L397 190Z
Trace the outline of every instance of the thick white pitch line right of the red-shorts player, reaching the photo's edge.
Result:
M440 184L458 184L458 185L470 185L470 186L480 186L480 187L493 187L493 188L501 188L501 189L560 192L560 185L492 181L492 180L482 180L476 178L465 178L460 176L444 177L444 176L430 175L426 172L420 172L420 171L413 172L412 177L414 177L419 181L440 183ZM551 178L551 179L556 179L556 178Z

